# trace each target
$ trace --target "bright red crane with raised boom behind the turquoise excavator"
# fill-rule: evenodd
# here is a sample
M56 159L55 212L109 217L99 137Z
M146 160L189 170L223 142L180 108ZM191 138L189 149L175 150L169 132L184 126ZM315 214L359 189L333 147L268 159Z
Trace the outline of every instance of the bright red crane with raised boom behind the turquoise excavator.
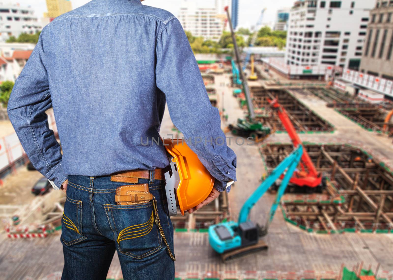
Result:
M270 107L277 113L281 123L284 125L285 130L288 132L288 136L291 138L294 147L298 147L301 145L301 140L299 135L296 133L296 129L294 128L288 114L286 113L283 106L281 106L277 99L268 98L268 102ZM316 191L321 192L323 191L323 187L326 185L325 177L322 176L316 170L316 167L312 163L312 160L307 153L307 151L303 150L303 155L301 156L300 161L300 169L296 170L290 179L290 184L294 187L308 187L308 191ZM277 189L277 185L272 186L272 190ZM305 189L302 188L302 191Z

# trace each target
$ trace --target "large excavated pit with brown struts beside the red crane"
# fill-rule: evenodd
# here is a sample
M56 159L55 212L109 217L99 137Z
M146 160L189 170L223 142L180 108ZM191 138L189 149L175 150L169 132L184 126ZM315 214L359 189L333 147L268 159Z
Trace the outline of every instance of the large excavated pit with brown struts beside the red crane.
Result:
M288 220L308 231L393 231L393 175L384 164L351 145L304 147L327 179L327 197L285 195L283 207ZM268 171L292 149L291 144L262 146Z

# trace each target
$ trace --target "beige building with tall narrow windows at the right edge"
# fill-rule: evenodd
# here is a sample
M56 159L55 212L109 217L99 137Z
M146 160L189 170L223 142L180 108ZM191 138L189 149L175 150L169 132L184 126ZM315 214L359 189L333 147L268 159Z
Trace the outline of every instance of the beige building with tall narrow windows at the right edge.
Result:
M370 13L360 71L393 80L393 0L377 0Z

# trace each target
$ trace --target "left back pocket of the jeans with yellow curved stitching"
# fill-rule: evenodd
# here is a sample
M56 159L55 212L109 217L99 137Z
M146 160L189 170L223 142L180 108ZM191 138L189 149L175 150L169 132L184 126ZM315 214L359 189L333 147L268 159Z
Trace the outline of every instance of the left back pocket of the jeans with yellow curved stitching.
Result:
M65 245L70 246L86 238L82 234L82 201L66 196L61 218L61 239Z

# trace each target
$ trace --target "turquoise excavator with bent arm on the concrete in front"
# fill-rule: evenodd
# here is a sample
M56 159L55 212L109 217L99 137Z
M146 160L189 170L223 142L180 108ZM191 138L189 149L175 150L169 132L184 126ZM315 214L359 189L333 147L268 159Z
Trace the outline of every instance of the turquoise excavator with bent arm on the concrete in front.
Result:
M209 227L209 243L221 255L222 260L248 254L253 251L267 249L266 243L261 239L268 233L275 211L285 193L286 186L292 177L303 155L302 145L290 153L270 175L257 187L252 195L243 204L239 213L239 220L222 222ZM261 227L249 219L250 211L257 201L268 191L277 179L283 175L275 200L270 208L266 224Z

